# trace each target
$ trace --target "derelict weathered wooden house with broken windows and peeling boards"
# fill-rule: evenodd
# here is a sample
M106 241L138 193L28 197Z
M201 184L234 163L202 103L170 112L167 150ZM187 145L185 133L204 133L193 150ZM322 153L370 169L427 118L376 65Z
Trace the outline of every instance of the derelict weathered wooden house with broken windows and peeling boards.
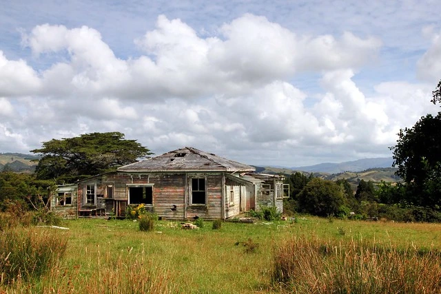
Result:
M254 171L252 166L185 147L80 180L72 199L54 201L54 207L65 209L70 203L78 216L125 216L128 205L143 204L161 218L176 219L227 219L262 207L281 212L287 187L283 178ZM60 187L59 193L66 189Z

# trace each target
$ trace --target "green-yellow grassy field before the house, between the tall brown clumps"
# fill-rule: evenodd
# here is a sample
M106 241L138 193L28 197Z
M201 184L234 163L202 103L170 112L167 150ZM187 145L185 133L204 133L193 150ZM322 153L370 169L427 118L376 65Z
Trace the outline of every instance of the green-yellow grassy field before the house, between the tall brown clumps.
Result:
M296 222L224 222L218 230L204 223L183 230L180 222L158 221L153 232L143 232L130 220L81 219L63 222L68 231L35 228L63 235L65 257L41 279L3 285L0 293L279 293L283 289L271 284L274 256L293 238L441 250L441 224L310 216Z

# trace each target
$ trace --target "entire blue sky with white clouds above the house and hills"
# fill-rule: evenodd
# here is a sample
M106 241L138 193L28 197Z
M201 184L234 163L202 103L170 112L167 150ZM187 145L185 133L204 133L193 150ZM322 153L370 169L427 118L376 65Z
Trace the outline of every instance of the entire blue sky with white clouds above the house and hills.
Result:
M123 132L287 167L391 156L438 112L440 1L5 1L0 152Z

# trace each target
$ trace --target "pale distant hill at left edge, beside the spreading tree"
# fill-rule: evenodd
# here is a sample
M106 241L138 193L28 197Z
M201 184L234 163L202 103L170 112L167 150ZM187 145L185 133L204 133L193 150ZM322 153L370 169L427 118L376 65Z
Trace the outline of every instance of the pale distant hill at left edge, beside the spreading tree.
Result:
M0 153L0 171L33 172L37 167L39 156L21 153Z

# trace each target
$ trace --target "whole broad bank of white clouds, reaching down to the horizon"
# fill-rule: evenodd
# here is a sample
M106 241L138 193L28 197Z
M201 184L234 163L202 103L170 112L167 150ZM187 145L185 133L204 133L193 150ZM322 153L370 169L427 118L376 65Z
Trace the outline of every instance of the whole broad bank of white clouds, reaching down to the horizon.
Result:
M157 154L190 145L255 163L265 150L283 165L287 156L387 154L398 129L430 109L425 85L363 92L356 74L376 60L376 37L299 34L254 14L215 32L161 15L135 40L141 55L121 59L94 28L37 25L23 44L51 61L44 69L0 52L0 144L26 151L119 131ZM314 94L296 81L311 73Z

